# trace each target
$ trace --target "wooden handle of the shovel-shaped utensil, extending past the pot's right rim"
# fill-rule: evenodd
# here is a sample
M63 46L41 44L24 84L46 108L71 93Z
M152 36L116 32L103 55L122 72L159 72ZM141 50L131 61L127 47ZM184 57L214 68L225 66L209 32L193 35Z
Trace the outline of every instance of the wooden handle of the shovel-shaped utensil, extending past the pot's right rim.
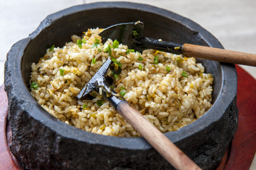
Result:
M218 62L256 66L256 55L245 52L235 52L231 50L223 50L220 48L184 43L183 54L187 57L196 57L207 60L216 60Z

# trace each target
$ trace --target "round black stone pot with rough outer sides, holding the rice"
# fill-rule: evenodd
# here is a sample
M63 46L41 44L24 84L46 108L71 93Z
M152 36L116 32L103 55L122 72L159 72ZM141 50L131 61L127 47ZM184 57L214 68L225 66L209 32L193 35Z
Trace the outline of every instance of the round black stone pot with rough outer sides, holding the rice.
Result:
M11 151L24 169L172 169L142 137L96 135L62 123L30 95L32 62L53 44L65 45L87 28L143 21L145 35L223 48L193 21L170 11L128 2L100 2L53 13L7 55ZM238 127L237 74L233 64L198 60L213 74L213 106L199 120L165 135L203 169L216 169Z

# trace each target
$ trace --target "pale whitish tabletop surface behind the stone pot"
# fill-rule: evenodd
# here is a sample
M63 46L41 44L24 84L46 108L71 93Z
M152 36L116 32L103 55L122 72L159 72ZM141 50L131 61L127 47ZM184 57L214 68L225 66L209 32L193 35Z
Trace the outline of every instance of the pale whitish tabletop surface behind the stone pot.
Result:
M104 1L104 0L103 0ZM6 53L28 37L50 13L90 0L0 0L0 86L4 83ZM228 50L256 54L255 0L142 0L190 18L212 33ZM256 79L256 67L243 67ZM256 169L254 160L250 169Z

